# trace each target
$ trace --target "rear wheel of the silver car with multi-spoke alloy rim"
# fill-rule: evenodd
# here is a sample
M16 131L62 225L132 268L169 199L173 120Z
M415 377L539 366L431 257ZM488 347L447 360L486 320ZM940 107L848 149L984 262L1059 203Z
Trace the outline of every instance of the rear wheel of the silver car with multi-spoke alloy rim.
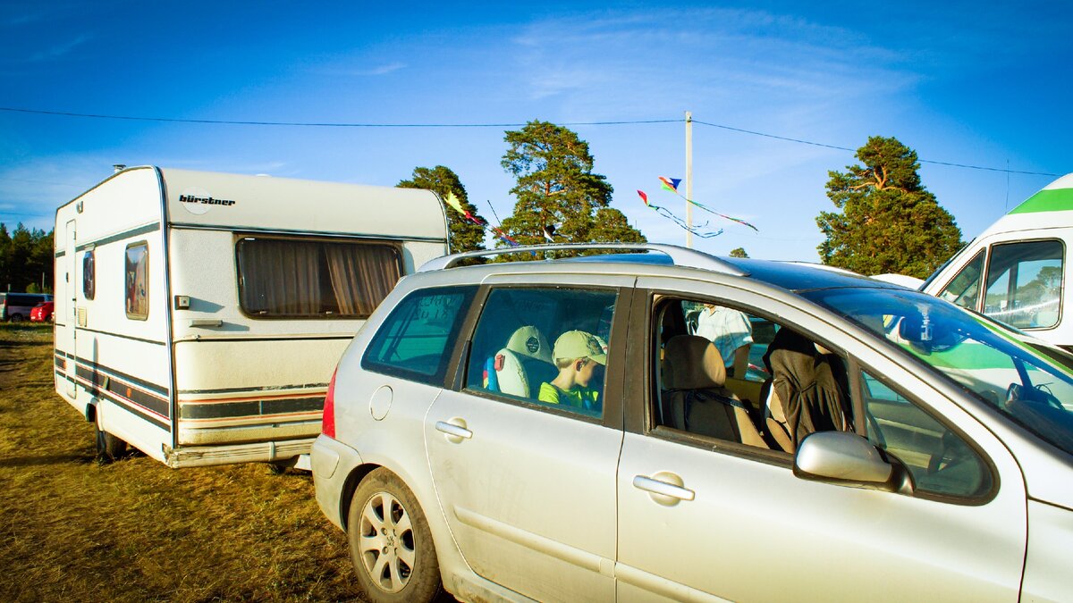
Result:
M440 594L428 520L398 475L383 468L369 473L354 491L348 519L350 559L370 601L432 601Z

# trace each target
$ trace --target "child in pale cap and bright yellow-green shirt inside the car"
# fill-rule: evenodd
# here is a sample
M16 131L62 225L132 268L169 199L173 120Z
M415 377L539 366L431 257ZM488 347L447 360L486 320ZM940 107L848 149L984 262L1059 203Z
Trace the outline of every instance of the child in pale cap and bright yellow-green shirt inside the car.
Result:
M541 383L538 399L549 405L600 410L600 392L589 387L598 369L607 365L600 338L584 330L568 330L555 340L552 351L559 374Z

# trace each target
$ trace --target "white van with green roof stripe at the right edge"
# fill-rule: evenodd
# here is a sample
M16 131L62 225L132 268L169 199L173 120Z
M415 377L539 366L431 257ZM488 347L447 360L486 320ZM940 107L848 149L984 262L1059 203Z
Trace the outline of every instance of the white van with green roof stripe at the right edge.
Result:
M1073 350L1069 242L1073 174L1014 207L921 286L1040 339Z

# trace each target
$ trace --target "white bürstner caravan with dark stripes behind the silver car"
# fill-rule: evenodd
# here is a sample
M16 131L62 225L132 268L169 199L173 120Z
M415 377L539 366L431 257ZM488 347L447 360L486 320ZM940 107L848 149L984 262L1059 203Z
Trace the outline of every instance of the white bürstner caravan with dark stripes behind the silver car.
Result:
M343 349L446 233L424 190L118 172L56 212L56 391L105 455L294 459Z

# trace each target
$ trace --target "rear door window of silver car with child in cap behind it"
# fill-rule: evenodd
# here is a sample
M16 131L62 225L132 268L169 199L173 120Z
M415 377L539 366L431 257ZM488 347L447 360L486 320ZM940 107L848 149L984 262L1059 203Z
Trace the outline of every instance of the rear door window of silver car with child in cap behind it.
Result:
M493 290L473 335L467 388L602 417L616 299L601 290Z

